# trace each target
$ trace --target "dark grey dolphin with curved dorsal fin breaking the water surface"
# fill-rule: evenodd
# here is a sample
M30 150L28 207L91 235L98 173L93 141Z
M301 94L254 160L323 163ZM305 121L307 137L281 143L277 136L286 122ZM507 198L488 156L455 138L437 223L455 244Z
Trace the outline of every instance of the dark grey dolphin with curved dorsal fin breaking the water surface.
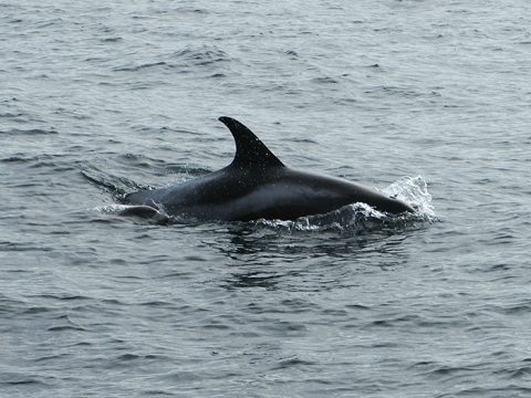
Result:
M225 116L219 121L236 142L229 166L173 187L129 193L124 202L137 205L140 213L149 213L148 207L173 216L223 221L293 220L356 202L394 214L414 212L405 202L376 190L288 168L241 123ZM134 213L134 208L127 209L128 216Z

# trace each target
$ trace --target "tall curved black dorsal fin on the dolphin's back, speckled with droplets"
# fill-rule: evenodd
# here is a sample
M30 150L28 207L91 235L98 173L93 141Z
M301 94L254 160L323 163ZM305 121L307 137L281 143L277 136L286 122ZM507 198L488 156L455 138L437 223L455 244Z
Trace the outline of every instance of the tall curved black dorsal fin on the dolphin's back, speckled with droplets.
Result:
M232 133L236 142L236 156L231 166L237 167L284 167L282 161L273 155L249 128L240 122L221 116L223 123Z

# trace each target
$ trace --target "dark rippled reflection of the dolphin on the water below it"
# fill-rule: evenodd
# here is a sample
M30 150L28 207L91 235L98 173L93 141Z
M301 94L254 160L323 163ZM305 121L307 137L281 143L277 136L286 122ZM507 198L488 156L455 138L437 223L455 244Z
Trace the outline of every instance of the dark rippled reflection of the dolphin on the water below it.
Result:
M365 233L288 231L263 224L230 226L212 247L232 270L227 289L319 291L344 286L347 274L405 266L415 231Z

